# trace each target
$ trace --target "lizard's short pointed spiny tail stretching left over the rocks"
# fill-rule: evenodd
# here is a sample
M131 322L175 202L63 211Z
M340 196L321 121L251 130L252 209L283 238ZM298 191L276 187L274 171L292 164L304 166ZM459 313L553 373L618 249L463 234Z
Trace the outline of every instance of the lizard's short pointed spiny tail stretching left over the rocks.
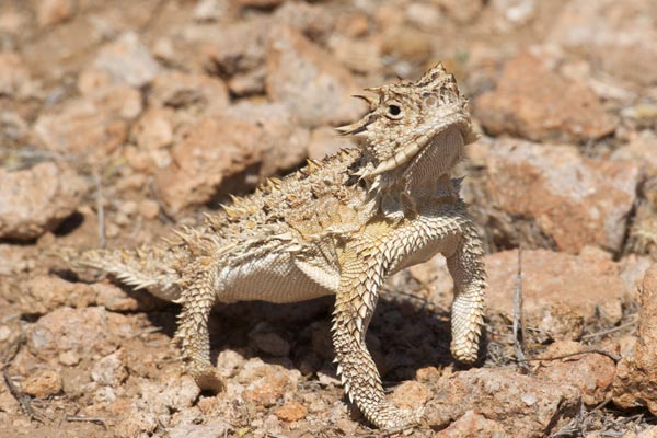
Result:
M73 269L93 268L111 274L135 289L148 289L158 298L180 298L180 275L171 268L173 254L155 247L136 250L88 250L60 247L55 254Z

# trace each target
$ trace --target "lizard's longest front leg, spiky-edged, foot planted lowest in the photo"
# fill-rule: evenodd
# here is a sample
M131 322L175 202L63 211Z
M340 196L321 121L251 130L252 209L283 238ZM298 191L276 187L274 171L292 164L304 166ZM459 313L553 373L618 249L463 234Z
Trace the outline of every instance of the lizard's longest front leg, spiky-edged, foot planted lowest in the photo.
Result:
M365 343L384 279L384 263L376 252L346 253L333 313L333 345L337 373L349 401L372 425L402 429L417 424L422 413L399 410L385 401L381 377Z

